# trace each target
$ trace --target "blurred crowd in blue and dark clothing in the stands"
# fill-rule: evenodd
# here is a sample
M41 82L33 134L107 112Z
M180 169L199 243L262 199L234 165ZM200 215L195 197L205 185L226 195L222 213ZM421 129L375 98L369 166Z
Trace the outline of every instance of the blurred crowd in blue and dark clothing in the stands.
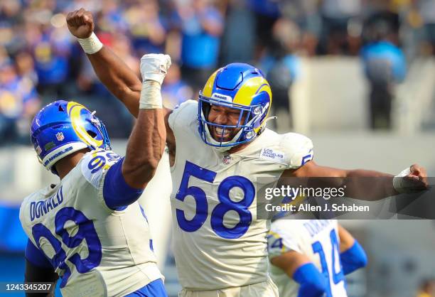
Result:
M405 61L435 49L435 0L1 0L0 144L27 144L33 114L55 99L87 104L113 138L128 136L131 117L68 32L65 14L80 7L138 75L144 53L171 55L168 107L197 97L215 68L237 61L258 65L275 109L289 109L299 57L361 55L373 110L389 109L378 97L404 80Z

